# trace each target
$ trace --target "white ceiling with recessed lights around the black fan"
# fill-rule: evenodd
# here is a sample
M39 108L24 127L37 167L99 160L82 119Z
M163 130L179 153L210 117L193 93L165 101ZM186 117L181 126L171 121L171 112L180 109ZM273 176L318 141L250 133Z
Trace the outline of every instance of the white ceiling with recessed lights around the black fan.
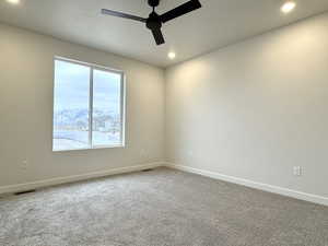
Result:
M186 1L162 0L157 12ZM328 0L296 0L288 15L280 12L283 0L200 1L203 8L164 25L163 46L154 44L142 23L99 12L107 8L147 17L147 0L21 0L19 5L0 0L0 22L167 67L328 10ZM174 61L169 50L177 54Z

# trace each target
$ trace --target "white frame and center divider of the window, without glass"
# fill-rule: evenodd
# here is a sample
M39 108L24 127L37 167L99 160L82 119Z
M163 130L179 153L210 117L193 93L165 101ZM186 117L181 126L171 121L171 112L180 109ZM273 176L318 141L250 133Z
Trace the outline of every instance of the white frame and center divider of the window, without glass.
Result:
M55 113L55 63L56 61L65 61L75 65L81 65L90 68L90 86L89 86L89 147L87 148L77 148L77 149L63 149L63 150L54 150L54 113ZM120 75L120 140L119 144L103 144L103 145L93 145L93 84L94 70L112 72ZM126 77L124 71L107 68L104 66L73 60L65 57L55 56L54 58L54 93L52 93L52 152L66 152L66 151L79 151L79 150L94 150L94 149L113 149L113 148L125 148L126 147Z

